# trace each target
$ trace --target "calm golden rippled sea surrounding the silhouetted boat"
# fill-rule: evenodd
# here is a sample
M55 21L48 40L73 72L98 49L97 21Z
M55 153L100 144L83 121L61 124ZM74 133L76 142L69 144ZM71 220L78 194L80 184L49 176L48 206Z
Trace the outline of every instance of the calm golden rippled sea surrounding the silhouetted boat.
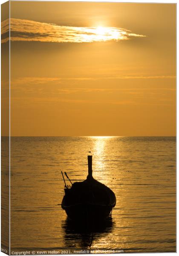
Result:
M11 251L176 251L175 137L12 137ZM111 224L81 233L61 209L64 182L93 177L115 192Z

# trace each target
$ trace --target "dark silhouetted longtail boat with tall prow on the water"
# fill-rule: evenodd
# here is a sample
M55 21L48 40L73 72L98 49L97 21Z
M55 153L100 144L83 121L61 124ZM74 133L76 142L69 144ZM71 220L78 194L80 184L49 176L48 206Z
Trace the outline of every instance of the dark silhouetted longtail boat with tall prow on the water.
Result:
M66 172L65 175L69 179ZM70 179L69 181L71 182ZM69 220L103 221L112 215L112 209L116 204L115 194L106 185L92 177L92 155L88 155L87 179L82 182L71 182L71 184L72 186L66 186L65 183L65 195L61 203Z

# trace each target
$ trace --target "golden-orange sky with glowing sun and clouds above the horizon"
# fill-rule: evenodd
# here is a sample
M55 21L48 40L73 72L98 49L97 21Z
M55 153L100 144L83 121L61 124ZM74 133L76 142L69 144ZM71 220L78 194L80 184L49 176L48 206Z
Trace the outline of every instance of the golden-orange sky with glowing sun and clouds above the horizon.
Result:
M175 134L175 4L11 2L12 136Z

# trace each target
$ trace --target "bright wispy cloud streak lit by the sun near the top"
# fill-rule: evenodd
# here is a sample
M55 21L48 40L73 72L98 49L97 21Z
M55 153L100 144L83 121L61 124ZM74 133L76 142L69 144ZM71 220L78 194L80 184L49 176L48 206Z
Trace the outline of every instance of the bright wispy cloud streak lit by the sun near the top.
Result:
M130 30L115 27L59 26L33 20L10 19L11 41L89 43L95 41L121 41L133 37L146 37ZM1 23L1 42L9 40L9 19Z

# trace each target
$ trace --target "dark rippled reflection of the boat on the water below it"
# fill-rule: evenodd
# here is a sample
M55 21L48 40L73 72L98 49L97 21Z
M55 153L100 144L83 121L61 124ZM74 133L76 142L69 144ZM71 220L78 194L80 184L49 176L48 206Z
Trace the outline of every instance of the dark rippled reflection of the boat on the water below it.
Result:
M79 224L74 221L69 221L66 218L61 222L61 227L64 230L64 242L68 249L83 249L91 250L93 242L101 238L105 238L108 233L113 231L115 222L113 218L109 218L101 223L88 223L86 225ZM89 253L89 251L88 251Z

